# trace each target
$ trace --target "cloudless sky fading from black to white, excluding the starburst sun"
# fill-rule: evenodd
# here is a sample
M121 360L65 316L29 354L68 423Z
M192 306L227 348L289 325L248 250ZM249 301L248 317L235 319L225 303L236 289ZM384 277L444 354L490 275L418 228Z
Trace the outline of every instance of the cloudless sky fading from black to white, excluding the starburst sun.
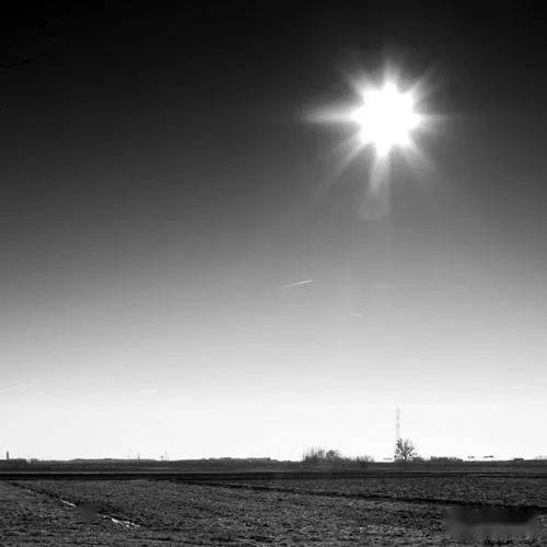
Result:
M462 4L7 14L0 450L546 454L547 22ZM306 116L385 60L446 120L363 222Z

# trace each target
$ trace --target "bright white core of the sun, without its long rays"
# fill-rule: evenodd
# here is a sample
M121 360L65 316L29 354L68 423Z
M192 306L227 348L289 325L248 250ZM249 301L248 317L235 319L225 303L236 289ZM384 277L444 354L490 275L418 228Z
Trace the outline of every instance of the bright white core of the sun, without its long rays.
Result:
M394 148L411 147L411 133L422 123L411 91L401 91L387 80L379 88L365 88L361 97L362 104L349 115L359 127L361 146L373 146L380 158Z

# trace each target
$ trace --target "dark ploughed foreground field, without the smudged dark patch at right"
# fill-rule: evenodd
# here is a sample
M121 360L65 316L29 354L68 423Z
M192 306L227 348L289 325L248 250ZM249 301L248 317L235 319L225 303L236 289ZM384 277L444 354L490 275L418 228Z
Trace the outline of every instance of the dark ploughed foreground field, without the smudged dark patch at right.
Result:
M487 473L8 479L0 545L469 545L446 529L451 507L529 508L536 537L513 526L498 543L547 545L547 478Z

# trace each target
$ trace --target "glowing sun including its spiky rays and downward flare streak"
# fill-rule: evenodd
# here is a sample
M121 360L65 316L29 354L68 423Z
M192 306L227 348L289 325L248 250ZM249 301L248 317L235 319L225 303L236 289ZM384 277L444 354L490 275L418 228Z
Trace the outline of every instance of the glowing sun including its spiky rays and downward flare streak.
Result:
M307 120L352 128L348 138L334 150L339 161L334 163L329 184L363 152L372 151L372 154L363 154L368 159L369 173L358 214L363 220L377 220L389 210L392 174L395 172L392 167L401 165L399 158L416 173L434 168L419 139L422 133L437 132L446 116L428 112L433 88L426 75L409 80L393 65L384 67L383 78L349 78L348 84L354 93L350 103L314 109Z

